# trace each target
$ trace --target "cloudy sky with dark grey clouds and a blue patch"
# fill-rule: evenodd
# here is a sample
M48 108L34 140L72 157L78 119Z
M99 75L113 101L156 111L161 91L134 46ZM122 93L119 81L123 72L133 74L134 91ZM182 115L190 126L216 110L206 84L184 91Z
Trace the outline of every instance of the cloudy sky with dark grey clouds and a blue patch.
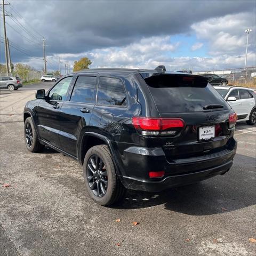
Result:
M7 36L14 63L48 70L88 57L92 68L193 71L256 65L256 1L6 1ZM0 7L2 12L2 6ZM18 13L17 13L18 12ZM4 59L0 16L1 63ZM63 72L63 71L62 71Z

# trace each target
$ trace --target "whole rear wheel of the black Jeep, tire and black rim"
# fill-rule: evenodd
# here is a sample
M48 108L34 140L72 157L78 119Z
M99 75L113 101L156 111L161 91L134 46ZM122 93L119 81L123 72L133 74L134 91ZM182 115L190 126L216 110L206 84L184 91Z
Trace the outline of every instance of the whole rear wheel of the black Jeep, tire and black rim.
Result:
M99 205L111 205L123 198L125 188L116 175L114 163L106 145L94 146L87 151L83 172L86 190Z

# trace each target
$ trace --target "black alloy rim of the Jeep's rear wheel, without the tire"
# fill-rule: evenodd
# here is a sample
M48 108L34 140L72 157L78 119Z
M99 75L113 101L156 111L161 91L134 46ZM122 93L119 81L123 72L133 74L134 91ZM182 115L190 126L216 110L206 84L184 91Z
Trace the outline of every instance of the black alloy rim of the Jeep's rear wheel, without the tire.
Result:
M98 155L92 155L87 162L87 181L93 194L103 197L108 188L108 173L105 163Z

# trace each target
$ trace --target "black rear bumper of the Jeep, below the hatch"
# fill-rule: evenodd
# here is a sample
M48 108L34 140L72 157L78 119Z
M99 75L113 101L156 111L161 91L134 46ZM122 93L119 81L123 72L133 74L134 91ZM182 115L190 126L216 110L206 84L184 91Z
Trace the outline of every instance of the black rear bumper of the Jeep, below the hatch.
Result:
M178 159L173 163L166 160L161 149L137 148L124 154L125 174L121 180L128 189L161 191L209 179L225 174L233 165L237 142L231 138L229 149L200 157ZM165 171L163 178L149 178L149 171Z

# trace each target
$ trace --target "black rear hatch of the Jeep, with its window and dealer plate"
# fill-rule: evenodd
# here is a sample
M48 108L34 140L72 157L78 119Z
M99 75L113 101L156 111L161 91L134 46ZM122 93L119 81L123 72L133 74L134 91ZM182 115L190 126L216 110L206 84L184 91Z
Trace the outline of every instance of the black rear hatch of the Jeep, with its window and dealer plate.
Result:
M159 135L141 136L141 145L162 147L169 162L228 150L233 135L229 116L234 111L204 77L161 73L142 74L142 77L159 117L162 120L180 118L184 125L167 129L174 131L170 135L160 132Z

